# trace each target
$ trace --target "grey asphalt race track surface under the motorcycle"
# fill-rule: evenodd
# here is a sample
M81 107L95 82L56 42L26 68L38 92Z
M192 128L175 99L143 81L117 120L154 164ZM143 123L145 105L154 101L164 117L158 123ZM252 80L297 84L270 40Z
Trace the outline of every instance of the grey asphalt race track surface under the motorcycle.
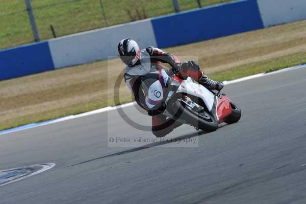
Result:
M196 138L195 148L109 148L108 135L152 137L116 110L1 135L0 170L56 166L0 187L0 203L306 203L305 87L306 69L228 84L239 123L167 136Z

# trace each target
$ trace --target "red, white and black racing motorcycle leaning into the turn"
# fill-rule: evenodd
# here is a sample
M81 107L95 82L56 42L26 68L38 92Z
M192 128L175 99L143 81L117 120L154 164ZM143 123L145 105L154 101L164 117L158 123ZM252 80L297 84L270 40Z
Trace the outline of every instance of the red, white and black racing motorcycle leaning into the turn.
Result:
M142 99L149 110L160 112L195 129L215 131L218 124L236 123L240 108L225 94L209 90L192 78L169 76L164 69L141 78Z

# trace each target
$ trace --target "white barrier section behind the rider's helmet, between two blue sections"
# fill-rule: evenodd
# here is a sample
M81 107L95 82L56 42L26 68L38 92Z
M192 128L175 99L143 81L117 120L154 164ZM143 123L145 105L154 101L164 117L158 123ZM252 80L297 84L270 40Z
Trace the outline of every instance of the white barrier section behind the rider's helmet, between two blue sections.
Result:
M135 39L142 49L157 47L150 19L53 39L49 47L58 69L117 56L119 41L127 37Z

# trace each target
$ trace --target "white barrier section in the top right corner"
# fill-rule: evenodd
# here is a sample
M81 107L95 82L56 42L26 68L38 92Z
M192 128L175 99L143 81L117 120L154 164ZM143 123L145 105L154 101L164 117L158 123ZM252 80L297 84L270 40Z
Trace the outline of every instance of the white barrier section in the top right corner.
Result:
M257 0L265 27L306 19L306 0Z

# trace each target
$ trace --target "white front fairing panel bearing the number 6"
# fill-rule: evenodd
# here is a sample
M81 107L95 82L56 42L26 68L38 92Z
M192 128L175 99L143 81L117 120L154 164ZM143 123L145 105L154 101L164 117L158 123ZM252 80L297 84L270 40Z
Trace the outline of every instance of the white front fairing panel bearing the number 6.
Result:
M152 83L149 87L148 96L145 98L145 104L152 108L164 98L163 87L160 81Z

